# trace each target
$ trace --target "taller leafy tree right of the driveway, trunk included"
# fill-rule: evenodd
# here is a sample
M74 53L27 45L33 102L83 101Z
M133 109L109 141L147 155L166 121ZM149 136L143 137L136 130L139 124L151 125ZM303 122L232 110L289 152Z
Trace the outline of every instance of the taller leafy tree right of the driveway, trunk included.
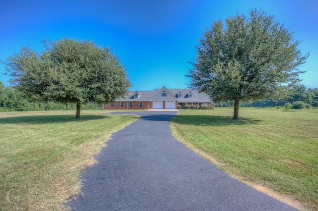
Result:
M301 81L296 67L309 56L292 34L264 10L251 9L248 18L237 13L225 26L214 21L196 46L189 87L215 102L234 100L233 119L239 118L240 100L286 97Z

